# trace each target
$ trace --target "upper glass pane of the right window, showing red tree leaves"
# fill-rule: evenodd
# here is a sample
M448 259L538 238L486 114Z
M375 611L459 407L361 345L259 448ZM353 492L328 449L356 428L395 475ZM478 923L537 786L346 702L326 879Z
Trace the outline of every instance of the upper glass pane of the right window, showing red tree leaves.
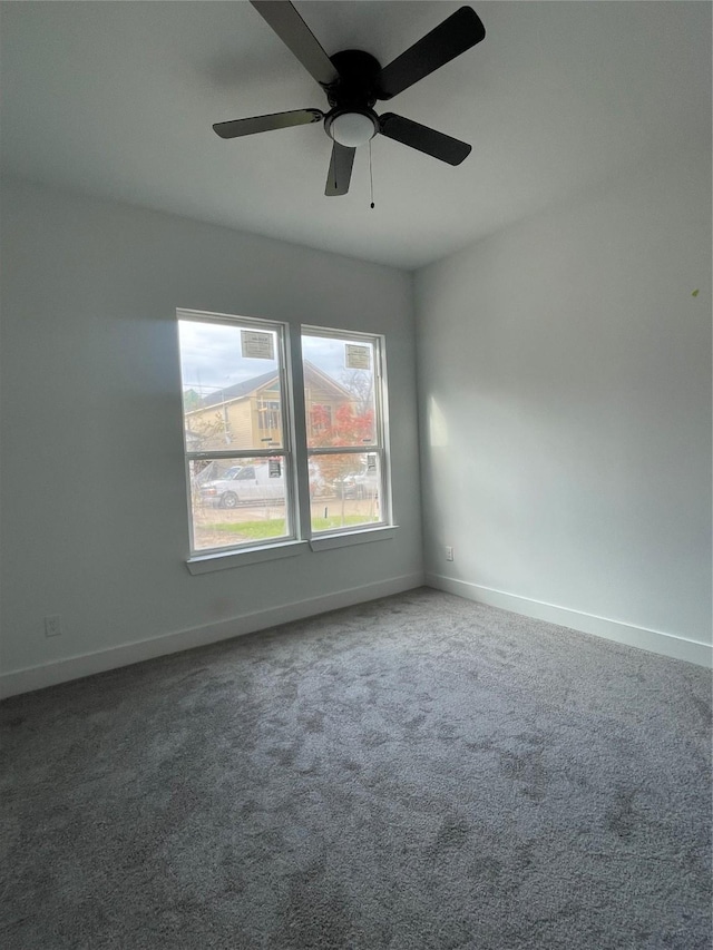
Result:
M303 333L302 355L307 445L375 444L373 343Z

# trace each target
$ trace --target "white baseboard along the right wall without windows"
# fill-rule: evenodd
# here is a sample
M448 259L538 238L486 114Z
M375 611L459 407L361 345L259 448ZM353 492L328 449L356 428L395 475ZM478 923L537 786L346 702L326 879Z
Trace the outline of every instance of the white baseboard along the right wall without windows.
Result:
M440 574L427 574L426 584L448 594L456 594L468 600L477 600L490 607L501 607L514 614L522 614L537 620L548 620L560 627L569 627L583 634L593 634L607 640L616 640L619 644L638 647L649 653L662 654L674 659L685 659L699 666L711 667L713 659L713 647L700 640L690 640L685 637L676 637L664 634L661 630L649 630L646 627L635 627L632 624L623 624L621 620L609 620L606 617L597 617L594 614L584 614L580 610L572 610L568 607L557 607L555 604L546 604L541 600L533 600L529 597L520 597L517 594L507 594L504 590L495 590L480 584L471 584L467 580L455 580Z

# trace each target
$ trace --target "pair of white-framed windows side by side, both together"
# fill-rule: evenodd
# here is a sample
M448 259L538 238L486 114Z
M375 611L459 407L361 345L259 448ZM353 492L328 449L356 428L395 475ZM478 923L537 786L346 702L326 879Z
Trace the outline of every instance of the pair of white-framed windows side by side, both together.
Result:
M178 330L192 556L390 523L380 337L305 327L291 342L277 322L192 311Z

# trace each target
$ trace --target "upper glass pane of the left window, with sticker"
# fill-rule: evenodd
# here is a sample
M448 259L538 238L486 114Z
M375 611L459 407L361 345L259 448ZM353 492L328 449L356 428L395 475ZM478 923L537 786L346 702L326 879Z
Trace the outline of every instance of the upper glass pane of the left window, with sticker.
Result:
M186 450L283 448L276 331L199 320L178 329Z

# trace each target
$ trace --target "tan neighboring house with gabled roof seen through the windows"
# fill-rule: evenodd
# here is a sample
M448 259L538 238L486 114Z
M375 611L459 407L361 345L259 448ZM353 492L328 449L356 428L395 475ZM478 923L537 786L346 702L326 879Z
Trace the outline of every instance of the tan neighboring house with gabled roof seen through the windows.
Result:
M354 404L352 393L315 365L304 363L307 419L335 418L341 405ZM211 393L186 407L186 439L193 451L260 449L282 444L280 379L276 371ZM315 413L315 410L320 410Z

